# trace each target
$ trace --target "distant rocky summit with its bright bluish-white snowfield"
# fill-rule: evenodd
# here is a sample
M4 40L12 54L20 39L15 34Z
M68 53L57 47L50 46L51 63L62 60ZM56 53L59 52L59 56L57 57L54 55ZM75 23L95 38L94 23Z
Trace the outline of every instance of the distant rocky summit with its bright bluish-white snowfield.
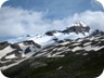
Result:
M47 42L53 43L54 40L77 39L89 36L90 27L86 26L82 22L72 24L63 30L50 30L42 35L20 37L17 39L8 40L10 43L21 42L24 40L34 40L36 43L46 44ZM47 43L50 44L50 43Z

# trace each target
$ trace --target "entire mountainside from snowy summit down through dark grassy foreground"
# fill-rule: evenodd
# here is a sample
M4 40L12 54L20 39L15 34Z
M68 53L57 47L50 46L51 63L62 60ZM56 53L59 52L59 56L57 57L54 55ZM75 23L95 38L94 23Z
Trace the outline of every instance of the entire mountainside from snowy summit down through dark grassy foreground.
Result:
M104 66L104 32L81 22L14 40L0 42L0 68L10 78L94 78Z

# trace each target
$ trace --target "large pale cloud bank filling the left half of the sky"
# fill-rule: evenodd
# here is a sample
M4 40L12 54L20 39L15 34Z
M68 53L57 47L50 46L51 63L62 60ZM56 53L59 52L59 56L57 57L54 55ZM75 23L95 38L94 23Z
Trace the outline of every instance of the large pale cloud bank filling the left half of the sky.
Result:
M2 8L0 10L0 36L22 36L41 32L49 25L43 21L42 12Z

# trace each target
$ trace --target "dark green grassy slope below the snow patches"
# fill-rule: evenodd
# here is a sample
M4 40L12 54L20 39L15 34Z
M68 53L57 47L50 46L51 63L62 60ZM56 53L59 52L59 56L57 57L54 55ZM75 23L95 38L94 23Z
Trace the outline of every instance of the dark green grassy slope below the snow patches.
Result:
M10 78L95 78L104 67L103 51L90 51L87 56L73 54L57 58L30 58L3 73L11 76ZM30 64L35 62L40 62L40 64L42 62L47 65L30 67Z

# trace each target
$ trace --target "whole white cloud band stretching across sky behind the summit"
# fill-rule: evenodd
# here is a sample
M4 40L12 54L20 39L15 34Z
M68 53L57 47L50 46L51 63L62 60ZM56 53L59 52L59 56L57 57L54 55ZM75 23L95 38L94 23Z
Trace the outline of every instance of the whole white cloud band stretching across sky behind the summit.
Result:
M104 30L104 13L86 11L63 20L48 20L47 12L23 9L0 9L0 37L18 37L23 35L43 34L51 29L65 29L72 23L82 21L91 28Z

